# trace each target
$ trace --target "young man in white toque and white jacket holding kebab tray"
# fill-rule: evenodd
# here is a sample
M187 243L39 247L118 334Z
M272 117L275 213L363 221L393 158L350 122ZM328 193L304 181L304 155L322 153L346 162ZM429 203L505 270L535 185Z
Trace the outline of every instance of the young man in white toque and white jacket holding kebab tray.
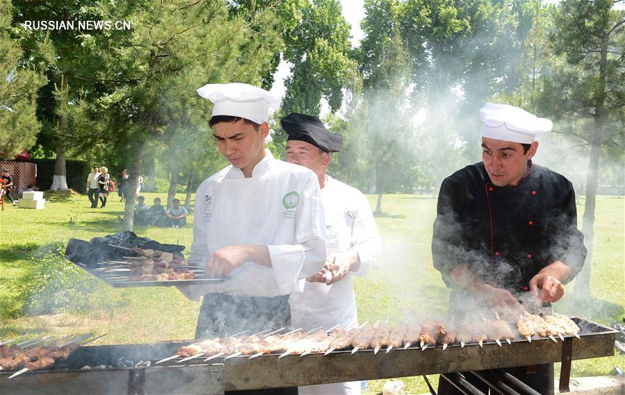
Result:
M269 108L279 104L269 92L243 83L197 92L214 105L209 124L231 165L195 194L189 260L206 264L208 276L228 276L222 284L181 287L192 300L204 295L195 337L290 326L288 295L301 292L300 280L325 262L318 180L264 148Z

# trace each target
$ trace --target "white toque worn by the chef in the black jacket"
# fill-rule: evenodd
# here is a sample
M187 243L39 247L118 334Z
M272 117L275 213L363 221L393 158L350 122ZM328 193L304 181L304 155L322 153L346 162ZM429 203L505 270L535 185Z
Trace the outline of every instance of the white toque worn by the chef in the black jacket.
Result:
M480 108L482 137L531 144L537 134L551 131L553 123L507 104L486 103Z

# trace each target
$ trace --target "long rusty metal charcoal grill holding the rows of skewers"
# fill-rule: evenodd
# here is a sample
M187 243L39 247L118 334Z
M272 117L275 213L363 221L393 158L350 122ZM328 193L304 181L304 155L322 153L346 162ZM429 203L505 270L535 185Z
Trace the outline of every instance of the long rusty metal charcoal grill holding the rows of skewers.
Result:
M190 342L83 346L47 371L29 371L10 380L10 372L0 372L0 393L222 394L227 390L505 369L550 362L563 362L562 372L567 373L566 365L570 366L571 360L614 354L616 330L583 319L574 321L583 329L580 338L565 337L565 342L549 338L532 342L514 339L503 346L495 342L464 348L453 344L446 350L442 346L423 350L416 344L407 349L393 348L389 353L366 349L356 353L309 353L303 357L291 354L280 358L279 354L271 354L252 359L247 355L225 359L226 355L222 355L206 362L195 358L179 363L180 358L156 364ZM568 385L568 376L565 381Z

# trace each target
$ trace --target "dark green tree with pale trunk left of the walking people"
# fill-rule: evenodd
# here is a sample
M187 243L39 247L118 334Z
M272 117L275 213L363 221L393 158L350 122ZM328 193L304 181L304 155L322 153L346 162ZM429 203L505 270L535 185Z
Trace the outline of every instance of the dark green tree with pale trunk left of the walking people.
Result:
M67 190L65 157L83 153L90 147L94 133L70 127L76 103L84 96L97 96L102 86L93 85L87 78L101 65L88 56L90 45L101 31L82 31L74 28L29 28L24 22L75 22L102 20L97 1L13 1L15 39L24 48L24 59L29 59L48 78L38 99L38 119L42 133L38 143L56 153L51 190ZM114 34L114 33L110 33ZM81 112L76 111L74 115ZM75 121L76 119L74 119ZM84 133L82 133L84 132Z

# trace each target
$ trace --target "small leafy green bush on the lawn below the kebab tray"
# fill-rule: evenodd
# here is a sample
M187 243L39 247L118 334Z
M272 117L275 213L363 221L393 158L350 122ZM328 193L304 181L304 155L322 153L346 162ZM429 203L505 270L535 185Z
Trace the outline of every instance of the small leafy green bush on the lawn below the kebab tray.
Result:
M58 312L90 310L92 294L102 292L103 283L63 259L65 246L34 257L32 281L24 293L27 296L24 315L56 314Z

